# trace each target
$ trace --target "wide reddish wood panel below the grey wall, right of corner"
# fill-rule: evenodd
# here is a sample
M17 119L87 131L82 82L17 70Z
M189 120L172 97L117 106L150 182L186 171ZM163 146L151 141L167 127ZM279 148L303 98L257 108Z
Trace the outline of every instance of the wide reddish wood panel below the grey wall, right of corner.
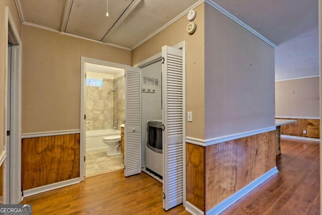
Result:
M206 211L276 166L276 132L206 147Z

